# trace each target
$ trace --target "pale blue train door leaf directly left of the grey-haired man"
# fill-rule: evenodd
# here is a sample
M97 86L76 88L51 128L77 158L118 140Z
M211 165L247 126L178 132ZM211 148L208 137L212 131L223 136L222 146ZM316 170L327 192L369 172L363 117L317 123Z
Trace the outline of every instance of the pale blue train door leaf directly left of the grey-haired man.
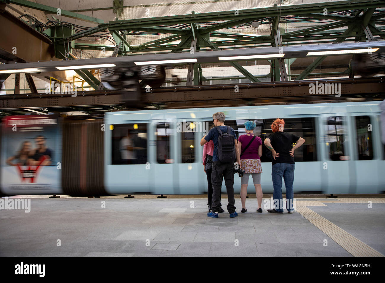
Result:
M177 120L176 122L176 166L177 180L180 194L201 194L202 174L202 152L201 138L206 134L204 122L191 120ZM206 176L204 176L206 177ZM206 181L206 178L203 178Z

